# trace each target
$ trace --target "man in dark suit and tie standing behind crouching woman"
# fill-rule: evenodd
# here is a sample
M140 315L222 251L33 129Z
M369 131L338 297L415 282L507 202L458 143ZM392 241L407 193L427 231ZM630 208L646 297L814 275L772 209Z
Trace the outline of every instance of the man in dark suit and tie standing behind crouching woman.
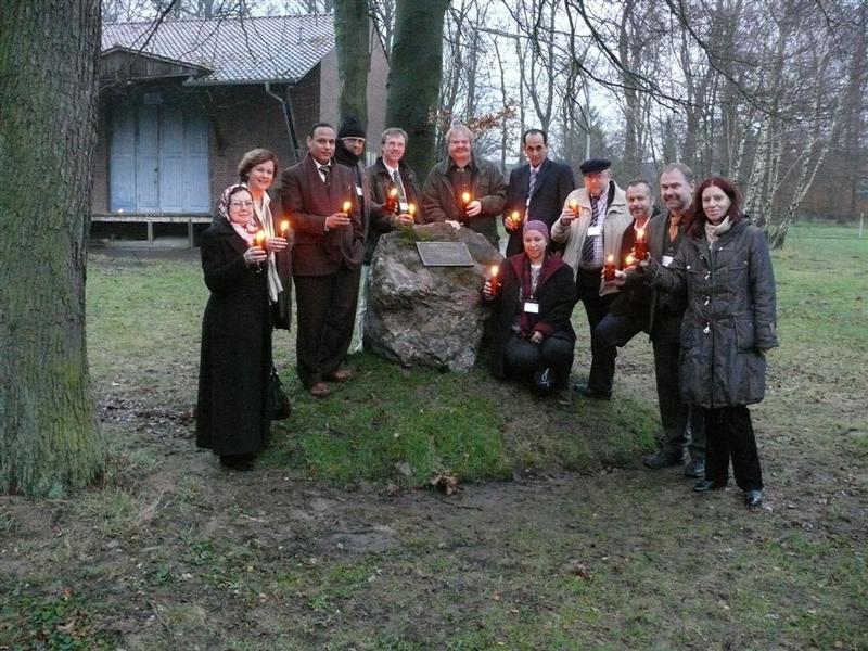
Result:
M527 164L510 171L503 210L503 226L509 233L507 257L522 252L522 224L538 219L551 229L566 195L576 187L570 166L548 157L548 135L542 129L525 131L522 145ZM516 214L519 220L514 219Z

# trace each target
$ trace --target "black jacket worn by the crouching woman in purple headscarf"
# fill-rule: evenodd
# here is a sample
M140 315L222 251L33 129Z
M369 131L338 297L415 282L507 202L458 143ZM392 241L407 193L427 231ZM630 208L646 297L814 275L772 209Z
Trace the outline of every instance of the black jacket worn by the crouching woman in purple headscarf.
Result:
M551 257L549 257L551 256ZM520 270L528 265L527 255L510 256L501 265L502 288L497 297L492 331L492 374L502 380L506 376L507 340L512 332L516 315L521 314ZM576 283L573 269L557 255L548 254L542 276L537 288L539 312L531 315L531 329L546 336L554 336L575 344L576 333L570 322L576 303Z

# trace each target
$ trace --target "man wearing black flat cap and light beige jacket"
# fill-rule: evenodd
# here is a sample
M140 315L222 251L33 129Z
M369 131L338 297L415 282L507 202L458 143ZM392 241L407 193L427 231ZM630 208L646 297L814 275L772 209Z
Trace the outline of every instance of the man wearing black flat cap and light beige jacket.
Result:
M612 283L603 283L602 268L610 255L621 266L621 240L630 224L627 199L612 180L611 165L605 158L589 158L579 166L585 187L567 195L551 228L551 239L563 245L563 261L575 271L578 299L585 305L591 334L588 381L575 388L600 399L612 397L617 348L593 337L593 329L618 291Z

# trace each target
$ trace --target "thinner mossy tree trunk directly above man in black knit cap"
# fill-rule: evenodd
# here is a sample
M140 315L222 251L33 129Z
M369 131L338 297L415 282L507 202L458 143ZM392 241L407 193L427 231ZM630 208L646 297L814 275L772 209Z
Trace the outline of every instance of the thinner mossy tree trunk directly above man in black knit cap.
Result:
M365 0L336 0L334 38L337 43L337 79L341 119L355 115L368 125L368 69L371 67L371 25Z

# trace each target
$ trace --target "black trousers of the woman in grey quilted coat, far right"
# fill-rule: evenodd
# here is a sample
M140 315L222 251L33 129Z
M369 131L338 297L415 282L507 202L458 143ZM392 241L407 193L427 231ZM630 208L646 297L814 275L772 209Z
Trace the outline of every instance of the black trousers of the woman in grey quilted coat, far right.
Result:
M729 481L729 460L732 459L732 474L738 487L742 490L762 490L763 472L748 406L704 411L707 445L705 478L726 484Z

